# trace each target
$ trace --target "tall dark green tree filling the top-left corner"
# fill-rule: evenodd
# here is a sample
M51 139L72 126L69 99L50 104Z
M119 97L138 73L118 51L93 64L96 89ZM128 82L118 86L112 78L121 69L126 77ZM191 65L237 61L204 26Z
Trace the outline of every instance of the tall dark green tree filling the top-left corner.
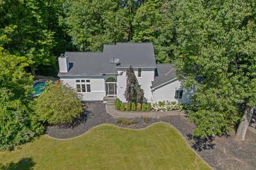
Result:
M7 0L0 2L0 32L6 51L29 58L33 74L39 64L54 61L54 32L47 29L45 1ZM7 41L6 41L7 40Z

